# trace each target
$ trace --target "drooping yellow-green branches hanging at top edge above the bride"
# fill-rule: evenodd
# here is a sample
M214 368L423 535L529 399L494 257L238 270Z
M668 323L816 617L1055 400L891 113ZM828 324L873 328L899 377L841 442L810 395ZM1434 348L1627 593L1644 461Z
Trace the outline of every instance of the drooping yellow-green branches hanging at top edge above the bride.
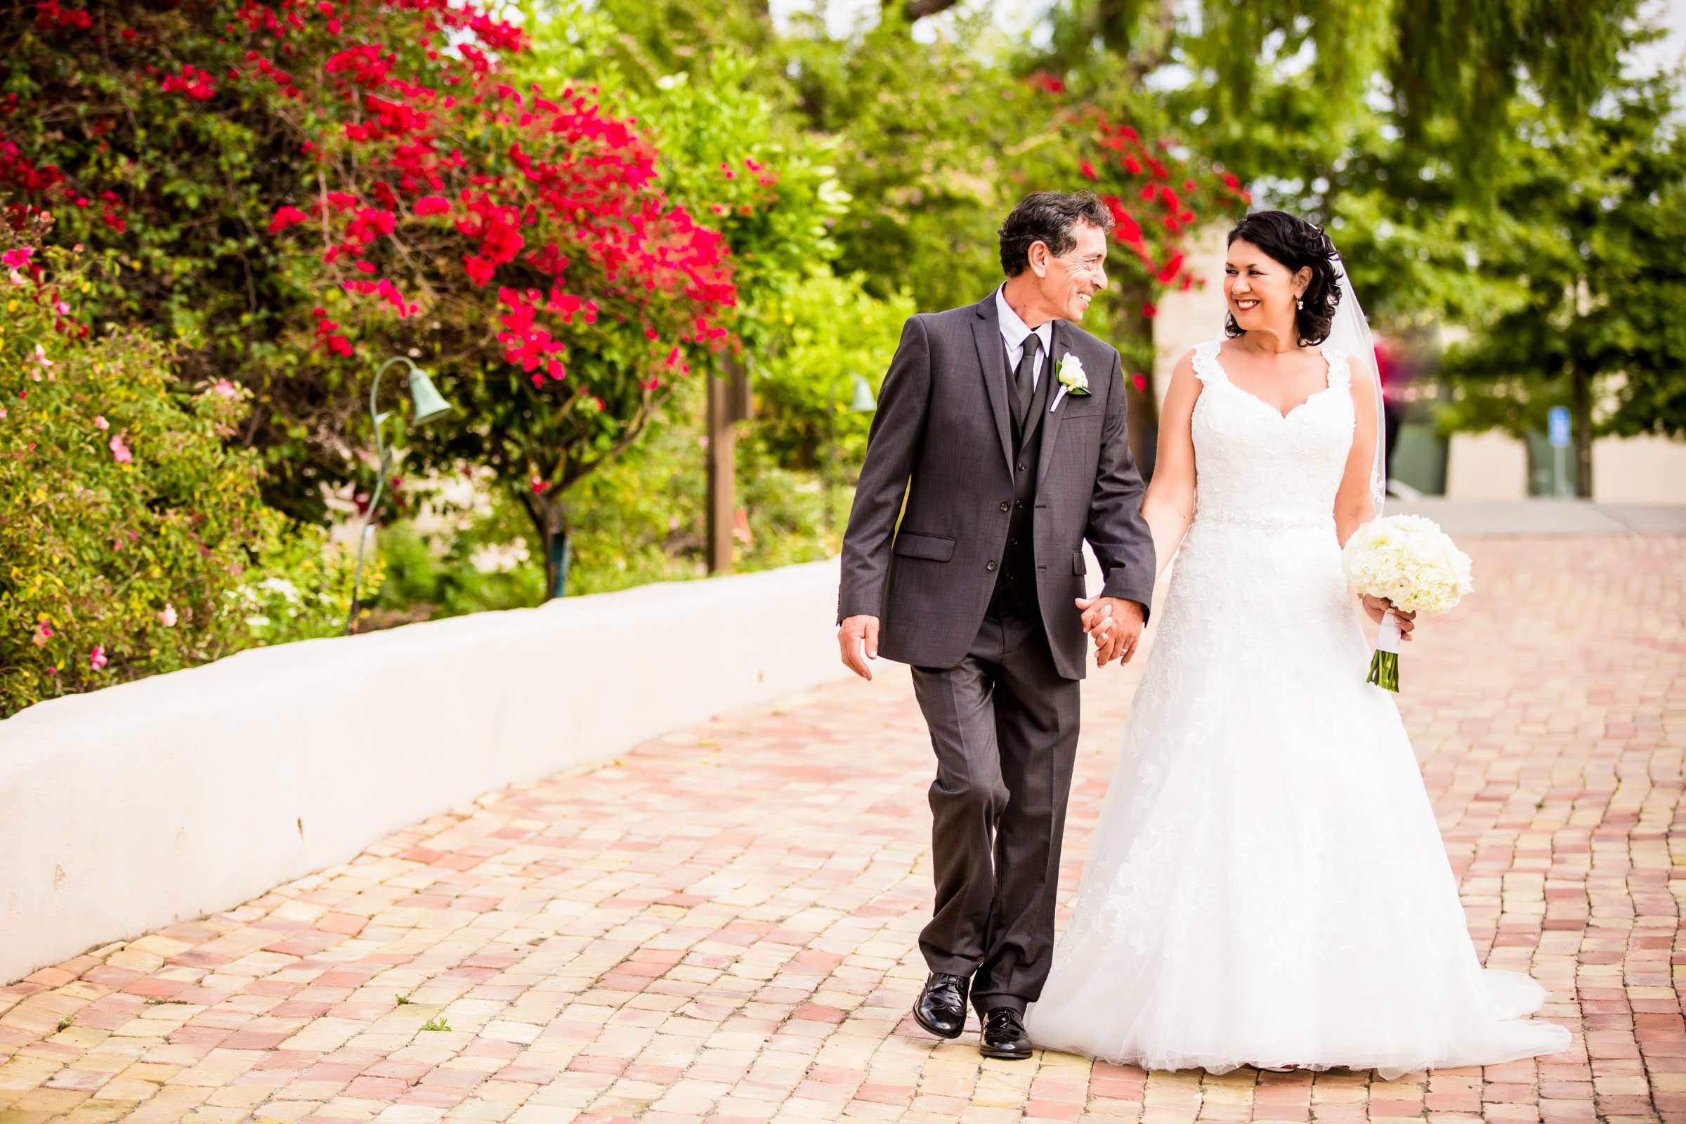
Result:
M1157 10L1145 13L1148 7ZM1457 143L1440 155L1457 184L1479 190L1506 138L1497 108L1529 89L1568 116L1590 110L1620 72L1625 25L1639 2L1200 0L1173 19L1175 7L1069 0L1055 40L1067 44L1064 61L1081 64L1082 40L1072 32L1096 22L1096 12L1116 12L1120 24L1175 27L1172 37L1141 44L1146 51L1131 42L1140 51L1133 69L1146 74L1175 62L1195 74L1172 99L1209 131L1216 158L1254 175L1315 179L1379 116L1406 140L1430 145L1438 123L1455 123ZM1118 62L1101 57L1093 66Z

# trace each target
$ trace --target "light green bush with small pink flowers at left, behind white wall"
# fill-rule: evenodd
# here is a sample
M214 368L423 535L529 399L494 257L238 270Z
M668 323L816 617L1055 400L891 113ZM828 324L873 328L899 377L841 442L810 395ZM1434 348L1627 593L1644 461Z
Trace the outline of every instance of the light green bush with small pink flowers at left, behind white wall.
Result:
M179 389L145 332L84 335L66 251L8 227L0 249L29 251L0 271L0 715L337 632L347 559L261 502L256 455L226 443L241 391Z

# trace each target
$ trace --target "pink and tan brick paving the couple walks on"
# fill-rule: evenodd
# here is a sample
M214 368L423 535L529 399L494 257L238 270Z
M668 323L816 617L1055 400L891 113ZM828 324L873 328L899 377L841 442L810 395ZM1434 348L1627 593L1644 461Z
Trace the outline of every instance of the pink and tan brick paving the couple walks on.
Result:
M1403 709L1470 932L1553 989L1568 1053L1379 1082L936 1043L907 1018L929 747L892 667L35 972L0 991L0 1122L1686 1121L1686 539L1472 548ZM1089 681L1067 902L1135 676Z

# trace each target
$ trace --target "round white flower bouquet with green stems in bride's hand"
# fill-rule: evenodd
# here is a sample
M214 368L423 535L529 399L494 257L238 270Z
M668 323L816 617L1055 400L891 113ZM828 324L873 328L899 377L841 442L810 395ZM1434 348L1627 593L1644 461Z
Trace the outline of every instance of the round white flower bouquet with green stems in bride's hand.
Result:
M1347 585L1357 593L1386 598L1408 613L1438 617L1474 588L1470 556L1433 519L1388 516L1352 533L1342 551ZM1388 610L1376 635L1369 682L1399 689L1399 624Z

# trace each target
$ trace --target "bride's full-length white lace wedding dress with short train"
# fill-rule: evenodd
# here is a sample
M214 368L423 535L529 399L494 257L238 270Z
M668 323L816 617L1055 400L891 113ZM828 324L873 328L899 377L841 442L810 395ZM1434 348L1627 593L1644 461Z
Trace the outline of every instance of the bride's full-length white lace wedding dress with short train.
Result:
M1195 349L1197 512L1076 917L1027 1028L1146 1068L1485 1065L1570 1046L1480 966L1340 573L1345 359L1283 416Z

